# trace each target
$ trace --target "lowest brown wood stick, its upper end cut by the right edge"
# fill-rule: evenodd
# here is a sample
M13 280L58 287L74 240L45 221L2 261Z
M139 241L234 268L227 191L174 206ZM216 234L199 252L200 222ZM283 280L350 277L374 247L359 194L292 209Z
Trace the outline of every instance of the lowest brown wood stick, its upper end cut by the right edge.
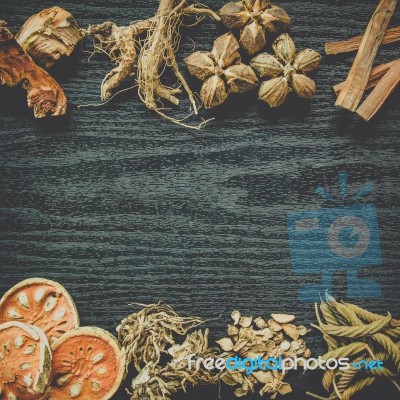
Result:
M357 110L357 114L364 120L370 121L383 106L386 99L393 93L400 83L400 60L397 60L379 81L375 89Z

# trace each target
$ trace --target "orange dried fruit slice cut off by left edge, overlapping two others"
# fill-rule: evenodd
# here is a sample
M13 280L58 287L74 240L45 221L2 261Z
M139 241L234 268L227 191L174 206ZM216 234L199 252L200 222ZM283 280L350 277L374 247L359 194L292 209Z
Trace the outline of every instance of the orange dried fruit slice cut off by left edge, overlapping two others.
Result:
M51 350L44 332L21 322L0 325L0 398L37 399L51 375Z

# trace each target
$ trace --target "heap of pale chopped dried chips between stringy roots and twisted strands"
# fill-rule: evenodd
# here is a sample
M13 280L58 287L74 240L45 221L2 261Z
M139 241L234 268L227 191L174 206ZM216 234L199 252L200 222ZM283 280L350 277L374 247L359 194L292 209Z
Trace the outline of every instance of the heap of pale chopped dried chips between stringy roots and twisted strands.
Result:
M233 324L228 326L228 337L217 343L225 352L221 357L229 359L262 360L269 358L311 356L306 342L301 339L308 333L304 326L294 325L294 315L272 314L272 318L265 321L263 318L242 316L239 311L233 311ZM278 394L284 395L292 391L291 386L284 381L286 374L279 370L255 370L251 373L246 370L230 370L223 372L221 379L230 386L239 386L235 390L237 397L246 396L259 390L260 396L268 394L275 399Z

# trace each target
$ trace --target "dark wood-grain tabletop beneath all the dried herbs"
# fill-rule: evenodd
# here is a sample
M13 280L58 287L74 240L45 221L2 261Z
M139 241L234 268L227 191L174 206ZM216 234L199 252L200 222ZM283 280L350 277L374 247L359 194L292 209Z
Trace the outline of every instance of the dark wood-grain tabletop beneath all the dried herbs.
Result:
M87 26L107 19L127 24L152 15L156 3L58 5ZM376 3L280 1L293 17L298 47L321 52L327 40L360 34ZM223 1L207 4L217 9ZM30 15L52 5L0 0L0 19L17 32ZM224 31L207 21L191 36L206 50ZM180 59L192 46L183 36ZM387 46L378 62L398 53L398 44ZM293 275L285 218L290 211L321 208L316 185L335 193L337 173L345 170L351 192L374 184L368 200L378 207L381 230L384 264L362 275L382 285L382 297L360 304L399 316L398 91L366 125L333 107L331 85L345 78L352 56L324 57L311 102L291 99L269 111L252 93L203 114L216 121L196 132L159 119L134 91L102 108L77 109L99 100L110 69L101 57L88 62L87 56L78 51L53 71L69 97L65 118L35 121L22 90L0 96L0 293L28 277L58 280L74 296L84 325L111 331L133 310L130 303L159 300L182 313L221 315L209 323L215 338L233 309L266 317L294 312L309 324L313 308L298 302L297 291L318 277ZM172 112L183 116L185 107ZM338 274L334 294L344 297L345 286ZM322 354L316 332L309 341L314 354ZM293 373L290 381L295 392L288 400L305 399L306 390L323 393L318 373ZM378 392L398 398L387 384ZM233 398L225 387L221 393ZM187 396L217 397L218 388ZM126 398L123 390L115 396Z

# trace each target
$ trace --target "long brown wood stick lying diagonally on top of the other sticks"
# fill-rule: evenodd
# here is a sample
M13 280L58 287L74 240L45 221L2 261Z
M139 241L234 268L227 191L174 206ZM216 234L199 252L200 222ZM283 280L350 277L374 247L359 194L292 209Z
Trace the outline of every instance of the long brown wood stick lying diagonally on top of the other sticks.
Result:
M336 106L356 111L396 5L397 0L380 1L365 31L346 83L336 100Z

